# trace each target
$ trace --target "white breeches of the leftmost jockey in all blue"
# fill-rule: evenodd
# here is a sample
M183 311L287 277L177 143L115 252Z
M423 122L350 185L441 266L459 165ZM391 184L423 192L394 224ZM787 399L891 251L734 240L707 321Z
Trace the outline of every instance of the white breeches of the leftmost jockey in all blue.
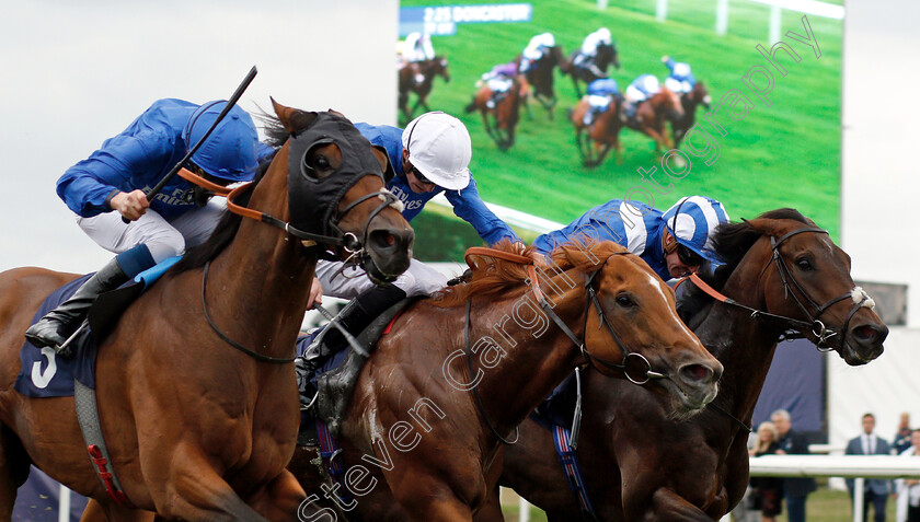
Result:
M207 241L226 208L226 199L211 198L205 207L189 210L171 221L147 209L140 219L130 223L125 223L120 213L112 211L92 218L78 216L77 224L110 252L120 254L146 244L153 260L160 263Z

